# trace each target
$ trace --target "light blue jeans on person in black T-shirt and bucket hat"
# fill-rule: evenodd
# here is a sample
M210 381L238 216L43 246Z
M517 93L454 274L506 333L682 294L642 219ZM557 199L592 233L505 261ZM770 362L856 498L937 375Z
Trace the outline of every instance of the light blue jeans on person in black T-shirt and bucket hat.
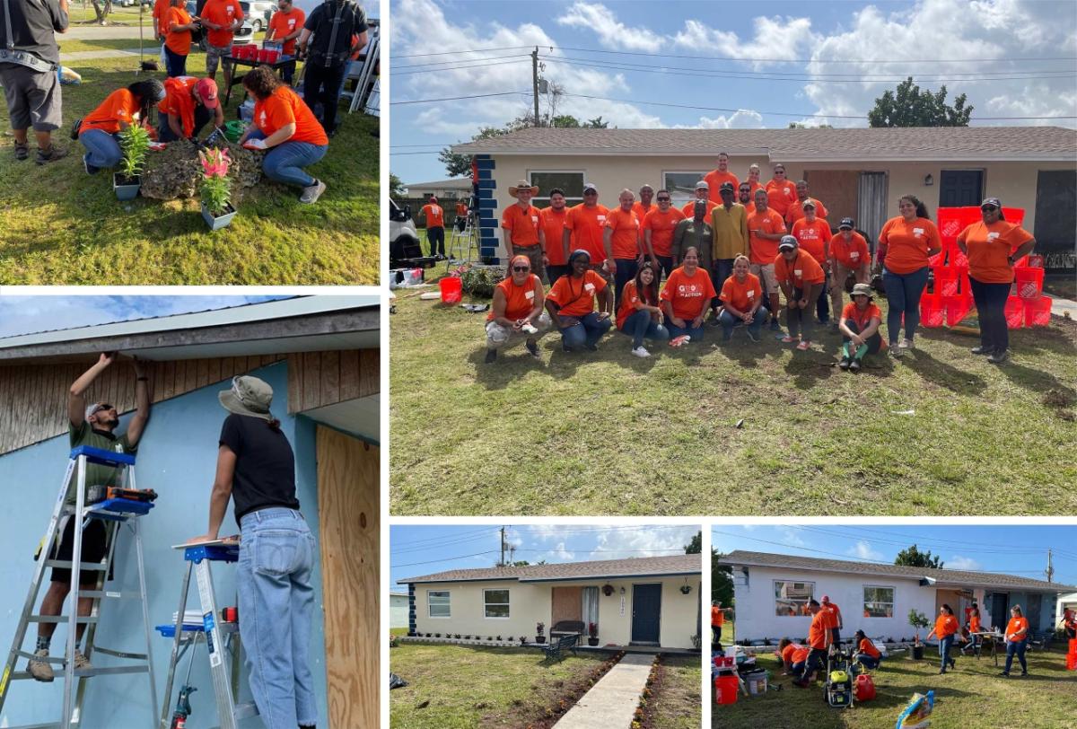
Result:
M258 714L267 729L317 724L307 656L314 537L290 508L253 511L239 524L239 631Z

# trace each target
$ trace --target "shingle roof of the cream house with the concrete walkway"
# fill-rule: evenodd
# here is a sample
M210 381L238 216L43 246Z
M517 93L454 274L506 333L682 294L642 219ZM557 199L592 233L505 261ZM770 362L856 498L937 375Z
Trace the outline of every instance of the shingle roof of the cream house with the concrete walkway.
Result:
M556 579L613 579L642 575L699 574L702 560L699 555L673 557L643 557L625 560L593 562L562 562L560 564L529 564L520 567L484 567L479 570L448 570L432 575L398 579L398 585L412 583L463 583L468 580L517 579L521 583Z

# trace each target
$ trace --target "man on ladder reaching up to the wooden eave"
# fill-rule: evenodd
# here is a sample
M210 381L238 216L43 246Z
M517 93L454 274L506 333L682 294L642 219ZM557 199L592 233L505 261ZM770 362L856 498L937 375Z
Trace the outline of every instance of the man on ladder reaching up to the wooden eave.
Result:
M68 394L68 419L70 422L69 434L71 437L71 447L78 448L79 446L90 446L93 448L100 448L101 450L110 450L123 453L134 453L138 449L138 441L142 437L142 432L145 430L145 424L150 420L150 390L148 387L149 377L146 377L145 369L138 360L135 360L135 399L137 410L131 421L127 424L127 432L123 435L116 435L115 429L120 424L120 417L116 413L116 408L108 403L95 403L90 406L86 406L85 397L83 393L89 388L97 377L104 371L116 359L115 352L102 353L97 363L82 374L79 379L76 379L71 384L71 390ZM100 464L87 464L86 465L86 486L112 486L116 481L116 472L118 468L100 465ZM76 474L72 473L71 480L68 482L68 493L66 497L66 503L74 507L78 494L75 493ZM60 538L59 548L56 552L56 559L59 560L71 560L72 547L73 547L73 534L74 534L74 519L79 518L73 516L68 518L67 524L62 529L62 537ZM81 562L100 562L104 559L107 541L106 541L106 525L102 521L98 519L93 519L86 525L85 531L82 535L82 557ZM51 549L52 545L45 545L46 551ZM47 559L47 553L41 555L39 559ZM86 589L94 589L93 586L97 581L97 574L94 572L82 572L79 575L79 584ZM67 599L68 593L71 591L71 571L64 567L53 567L52 583L48 586L48 590L45 592L45 597L41 601L41 615L45 616L56 616L59 615L64 608L64 601ZM90 609L94 604L93 598L79 598L79 615L86 617L89 615ZM86 628L86 623L80 623L76 629L76 634L74 641L78 644L82 640L83 631ZM27 670L30 675L32 675L37 681L51 682L55 678L52 667L46 660L48 658L48 646L52 642L53 632L56 630L55 622L39 622L38 623L38 644L34 649L34 654L38 656L39 660L31 660L27 665ZM69 637L68 640L72 640ZM75 648L74 651L74 668L76 670L93 668L82 651Z

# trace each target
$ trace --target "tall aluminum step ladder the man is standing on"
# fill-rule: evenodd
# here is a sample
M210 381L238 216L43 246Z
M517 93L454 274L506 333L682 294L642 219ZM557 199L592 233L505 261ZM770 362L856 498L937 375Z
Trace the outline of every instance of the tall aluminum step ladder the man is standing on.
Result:
M53 664L62 667L64 679L64 703L61 707L60 720L45 724L31 724L13 726L10 729L45 729L59 727L69 729L70 727L81 727L82 706L86 698L86 679L92 676L115 675L123 673L145 673L150 681L150 705L153 712L153 719L149 723L152 727L157 717L157 683L153 674L153 654L150 648L150 614L145 597L145 569L142 556L142 537L139 532L139 517L149 513L153 508L150 502L131 501L127 499L109 499L89 506L86 505L86 466L93 463L97 465L111 466L120 469L121 483L123 488L135 489L135 457L130 453L113 452L93 448L90 446L80 446L71 451L68 460L67 472L64 475L64 482L60 486L59 497L53 509L52 519L48 522L48 530L42 539L40 556L37 558L37 566L33 570L33 578L30 583L30 590L26 597L26 604L15 628L15 637L12 641L11 651L8 654L8 661L0 673L0 721L3 721L3 706L11 692L12 684L16 681L33 679L29 671L16 671L15 662L19 658L34 658L32 651L23 650L23 642L26 639L27 628L31 622L55 622L68 625L67 649L64 658L42 659ZM71 475L76 474L75 505L72 507L66 503L68 485L71 482ZM116 485L111 485L116 486ZM60 530L68 519L74 520L74 541L71 549L71 560L50 559L58 546ZM106 557L100 562L82 561L82 534L92 519L100 519L106 522ZM135 553L138 560L138 591L134 590L106 590L104 583L109 579L112 570L112 559L115 555L116 541L122 529L126 527L135 539ZM45 567L67 567L78 564L79 570L94 571L98 573L97 583L93 589L83 589L79 585L79 570L71 572L70 614L48 616L33 613L33 606L38 602L42 580L45 575ZM78 598L92 598L93 603L89 615L79 616L76 605ZM138 599L142 603L142 625L145 630L145 653L136 654L122 650L110 650L95 645L97 636L97 626L101 619L102 601L106 600L134 600ZM78 647L75 641L75 627L85 625L86 630L83 635L85 649L83 655L92 659L95 655L101 654L134 661L126 665L110 668L98 668L75 670L74 651ZM4 725L6 726L6 725Z

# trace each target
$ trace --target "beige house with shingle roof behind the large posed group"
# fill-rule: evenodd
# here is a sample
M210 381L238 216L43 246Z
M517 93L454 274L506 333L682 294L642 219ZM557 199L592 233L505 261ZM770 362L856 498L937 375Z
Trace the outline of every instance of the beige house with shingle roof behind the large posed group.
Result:
M979 206L988 196L1023 208L1023 226L1054 270L1077 266L1077 130L1062 127L912 127L867 129L557 129L529 128L503 137L457 144L479 170L479 228L484 256L503 257L501 213L515 201L508 186L538 185L533 204L548 205L561 187L569 205L583 201L584 182L596 184L599 202L643 184L668 188L675 207L693 195L697 180L729 155L729 170L760 181L785 165L791 180L807 180L826 206L830 223L856 220L873 241L897 213L897 199L912 194L932 214L939 207Z

